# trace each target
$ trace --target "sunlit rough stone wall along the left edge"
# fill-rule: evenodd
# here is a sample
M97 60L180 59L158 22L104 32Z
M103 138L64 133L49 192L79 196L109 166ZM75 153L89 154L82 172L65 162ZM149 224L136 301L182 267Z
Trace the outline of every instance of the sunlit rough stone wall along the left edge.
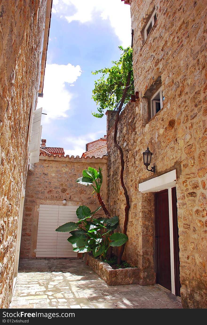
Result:
M32 93L45 19L42 1L0 3L0 307L12 291L22 185L27 174L27 137Z

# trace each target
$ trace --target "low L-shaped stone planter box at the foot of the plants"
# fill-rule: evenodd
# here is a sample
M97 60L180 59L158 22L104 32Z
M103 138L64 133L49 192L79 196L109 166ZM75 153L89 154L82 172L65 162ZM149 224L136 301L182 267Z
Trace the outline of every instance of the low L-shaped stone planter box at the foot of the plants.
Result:
M136 267L118 268L114 270L108 263L85 253L83 260L108 285L139 284L139 269Z

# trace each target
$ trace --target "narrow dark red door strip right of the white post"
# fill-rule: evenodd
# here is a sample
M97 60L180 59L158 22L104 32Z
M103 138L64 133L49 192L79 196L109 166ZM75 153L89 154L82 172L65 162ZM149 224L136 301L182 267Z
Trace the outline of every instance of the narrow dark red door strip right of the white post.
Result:
M179 258L179 235L177 224L177 197L176 188L172 188L172 206L173 206L173 243L174 243L174 265L175 265L175 294L180 297L180 258Z

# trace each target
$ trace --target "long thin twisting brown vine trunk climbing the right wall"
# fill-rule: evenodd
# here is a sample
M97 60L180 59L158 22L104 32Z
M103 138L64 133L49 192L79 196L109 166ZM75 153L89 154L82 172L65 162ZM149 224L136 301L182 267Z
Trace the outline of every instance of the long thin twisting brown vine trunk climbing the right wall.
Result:
M120 102L120 105L119 105L119 108L116 112L116 120L115 120L115 123L114 123L114 145L115 147L119 150L120 152L120 160L121 160L121 173L120 173L120 180L121 180L121 185L122 185L122 188L124 190L124 196L126 198L126 206L125 206L125 218L124 218L124 224L123 224L123 234L126 235L126 230L127 230L127 224L128 224L128 220L129 220L129 208L130 208L130 204L129 204L129 195L128 195L128 192L127 192L127 189L124 185L124 181L123 181L123 171L124 171L124 159L123 159L123 150L122 148L117 144L117 129L118 129L118 122L119 122L119 114L120 114L120 111L122 109L122 106L123 106L123 103L124 103L124 100L126 98L126 94L127 94L127 88L128 86L130 85L130 79L131 79L131 72L128 73L128 78L127 78L127 83L126 83L126 86L125 86L125 89L124 89L124 92L123 92L123 96L122 96L122 99L121 99L121 102ZM117 256L117 263L118 264L121 264L121 259L122 259L122 255L123 255L123 252L124 252L124 247L125 247L125 244L123 244L120 249L119 249L119 252L118 252L118 256Z

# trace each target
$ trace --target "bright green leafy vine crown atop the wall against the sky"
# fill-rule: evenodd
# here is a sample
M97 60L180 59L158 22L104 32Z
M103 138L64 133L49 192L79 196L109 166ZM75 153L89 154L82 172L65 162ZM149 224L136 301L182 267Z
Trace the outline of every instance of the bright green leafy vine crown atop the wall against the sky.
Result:
M112 61L114 65L111 68L104 68L92 72L96 75L101 73L101 77L95 81L95 88L93 89L92 98L96 102L98 112L93 112L93 116L102 117L103 111L113 110L119 101L122 99L123 91L127 83L128 73L131 73L130 84L133 84L133 69L132 69L132 51L131 47L124 49L119 46L119 49L123 52L118 61ZM133 89L132 89L133 91ZM128 94L124 98L124 103L128 103L131 95Z

